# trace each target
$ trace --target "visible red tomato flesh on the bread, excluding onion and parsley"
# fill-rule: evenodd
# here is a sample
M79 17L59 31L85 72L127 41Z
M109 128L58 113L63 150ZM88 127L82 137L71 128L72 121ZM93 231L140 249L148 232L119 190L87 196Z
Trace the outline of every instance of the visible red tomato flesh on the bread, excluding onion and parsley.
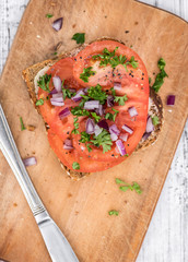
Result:
M104 48L113 51L116 47L119 47L116 51L117 56L126 56L129 60L133 56L134 60L138 61L139 67L133 69L132 66L127 66L128 71L126 71L122 64L117 66L115 69L110 66L103 68L98 66L99 61L91 59L93 55L102 53ZM89 78L89 83L85 83L80 79L80 74L85 67L93 67L96 72L95 75ZM129 155L134 151L146 126L149 79L142 60L132 49L117 41L96 41L80 51L75 58L61 59L55 63L47 73L52 76L58 75L61 80L64 80L66 85L71 88L81 88L84 86L90 87L99 83L103 90L109 90L114 86L114 83L120 83L121 88L116 91L116 95L122 96L126 94L128 100L124 106L119 106L118 103L116 103L113 107L119 111L115 124L121 133L125 133L122 130L124 124L127 124L133 130L133 133L129 134L127 142L124 142L124 144ZM52 83L50 83L50 90L51 88ZM45 98L47 95L47 92L39 88L39 98ZM92 151L89 153L86 145L80 142L81 135L71 133L74 129L74 116L72 114L60 120L59 112L62 109L68 107L71 110L72 107L78 105L79 103L74 103L67 98L64 100L64 106L62 107L54 107L49 100L45 100L44 105L39 106L44 120L49 126L48 140L50 146L62 164L73 170L72 164L73 162L78 162L80 164L80 169L78 171L92 172L105 170L124 162L126 157L121 156L117 151L115 142L113 143L111 150L105 154L103 153L102 146L96 147L94 145L91 145ZM128 112L130 107L137 109L137 117L130 117ZM106 107L105 110L106 112L114 114L111 108ZM86 117L79 117L78 122L79 131L85 131ZM108 126L114 124L113 121L107 120L107 122ZM68 138L72 140L73 150L71 151L63 148L63 142Z

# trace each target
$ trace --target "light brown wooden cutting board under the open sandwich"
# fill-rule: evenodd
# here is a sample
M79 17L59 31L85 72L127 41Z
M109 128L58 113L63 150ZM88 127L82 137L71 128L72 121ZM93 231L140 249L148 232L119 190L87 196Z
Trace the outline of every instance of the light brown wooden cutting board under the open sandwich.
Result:
M45 17L52 13L54 17ZM63 16L62 29L51 28ZM34 109L22 80L26 67L71 50L74 33L86 33L86 43L107 36L132 46L157 73L157 60L166 61L169 78L160 91L164 127L157 142L125 163L74 182L60 168L50 150L44 122ZM22 19L0 82L0 100L22 157L36 155L30 176L51 217L81 262L136 260L178 144L188 105L188 26L181 19L133 0L31 0ZM176 95L173 108L165 105ZM20 130L22 116L35 132ZM122 192L115 178L137 181L143 193ZM109 216L109 210L119 216ZM48 262L44 241L3 155L0 153L0 257L11 262Z

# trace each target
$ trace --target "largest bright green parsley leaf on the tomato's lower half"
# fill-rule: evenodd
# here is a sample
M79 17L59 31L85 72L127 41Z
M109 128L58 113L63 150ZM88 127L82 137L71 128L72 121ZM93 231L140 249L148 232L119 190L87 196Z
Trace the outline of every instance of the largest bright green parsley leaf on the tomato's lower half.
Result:
M102 145L103 153L110 151L113 145L110 134L106 130L103 130L97 136L94 135L91 142L97 147Z

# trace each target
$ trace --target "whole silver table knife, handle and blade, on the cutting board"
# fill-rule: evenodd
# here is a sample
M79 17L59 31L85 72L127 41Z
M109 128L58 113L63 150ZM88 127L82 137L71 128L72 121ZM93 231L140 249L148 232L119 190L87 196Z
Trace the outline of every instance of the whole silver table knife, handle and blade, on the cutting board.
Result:
M1 105L0 150L5 156L23 190L52 262L79 262L68 240L46 211L28 177Z

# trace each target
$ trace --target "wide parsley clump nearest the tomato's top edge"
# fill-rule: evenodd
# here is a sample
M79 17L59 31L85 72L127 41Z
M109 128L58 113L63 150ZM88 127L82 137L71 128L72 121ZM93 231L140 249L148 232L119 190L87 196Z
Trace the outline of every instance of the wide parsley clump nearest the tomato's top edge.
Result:
M131 59L128 61L126 56L115 56L116 50L118 47L114 49L114 51L109 51L107 48L104 48L103 53L101 55L95 55L92 58L94 60L101 60L99 66L101 67L106 67L107 64L110 64L111 68L116 68L118 64L122 64L127 70L127 66L130 64L132 68L137 69L138 68L138 61L134 60L134 57L132 56Z

